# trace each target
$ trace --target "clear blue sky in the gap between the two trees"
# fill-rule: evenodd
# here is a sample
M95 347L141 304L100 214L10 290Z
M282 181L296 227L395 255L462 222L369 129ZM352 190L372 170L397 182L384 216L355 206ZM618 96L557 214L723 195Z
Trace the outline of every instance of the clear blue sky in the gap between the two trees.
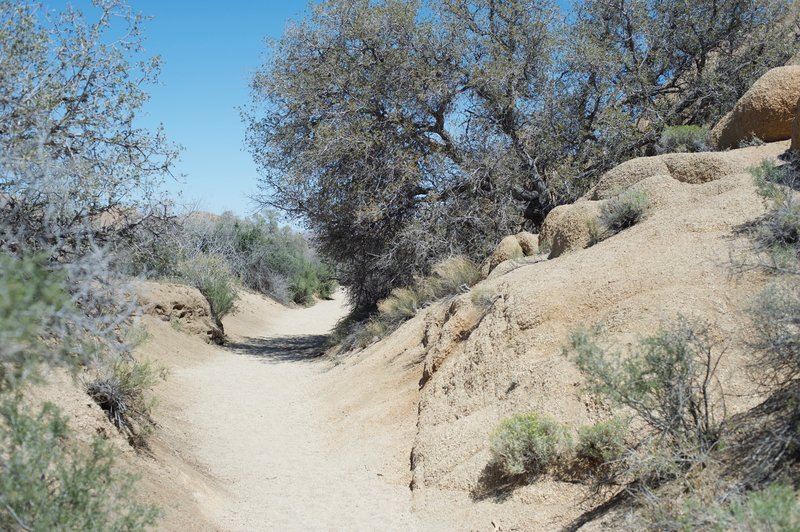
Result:
M53 8L71 3L92 12L90 0L45 3ZM163 124L167 137L184 147L175 168L184 177L169 182L168 190L200 210L254 212L257 206L248 196L256 192L258 172L244 148L238 108L248 103L248 82L265 58L265 38L278 39L289 20L303 18L308 1L128 3L152 17L144 28L146 52L164 60L160 83L149 87L151 100L141 124Z

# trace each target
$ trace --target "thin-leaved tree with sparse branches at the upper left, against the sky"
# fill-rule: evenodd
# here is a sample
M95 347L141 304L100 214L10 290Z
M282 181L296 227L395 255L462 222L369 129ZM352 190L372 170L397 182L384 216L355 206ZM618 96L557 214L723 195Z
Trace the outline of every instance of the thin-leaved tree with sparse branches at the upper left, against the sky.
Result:
M130 7L93 11L0 0L0 248L75 252L163 214L177 150L136 122L160 60Z

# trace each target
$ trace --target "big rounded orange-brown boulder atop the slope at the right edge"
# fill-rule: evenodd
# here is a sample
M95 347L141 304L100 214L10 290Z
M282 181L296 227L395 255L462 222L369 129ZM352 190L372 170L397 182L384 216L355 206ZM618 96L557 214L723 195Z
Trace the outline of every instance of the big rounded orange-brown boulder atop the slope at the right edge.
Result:
M736 102L711 131L718 149L737 148L758 137L764 142L792 137L792 122L800 98L800 66L769 70Z

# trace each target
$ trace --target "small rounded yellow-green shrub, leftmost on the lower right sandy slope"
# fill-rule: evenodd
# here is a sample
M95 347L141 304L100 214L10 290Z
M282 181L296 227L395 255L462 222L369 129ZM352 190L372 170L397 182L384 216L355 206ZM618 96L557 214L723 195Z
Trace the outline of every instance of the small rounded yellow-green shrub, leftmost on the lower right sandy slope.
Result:
M572 437L560 423L535 413L506 419L491 438L491 464L507 477L538 475L572 450Z

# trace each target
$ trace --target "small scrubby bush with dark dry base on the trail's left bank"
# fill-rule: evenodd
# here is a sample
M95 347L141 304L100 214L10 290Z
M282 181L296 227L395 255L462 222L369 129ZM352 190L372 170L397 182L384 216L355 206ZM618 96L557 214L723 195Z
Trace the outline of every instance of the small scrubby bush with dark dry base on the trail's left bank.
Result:
M150 392L166 377L166 368L154 362L117 360L88 383L86 391L132 445L144 446L155 426Z

